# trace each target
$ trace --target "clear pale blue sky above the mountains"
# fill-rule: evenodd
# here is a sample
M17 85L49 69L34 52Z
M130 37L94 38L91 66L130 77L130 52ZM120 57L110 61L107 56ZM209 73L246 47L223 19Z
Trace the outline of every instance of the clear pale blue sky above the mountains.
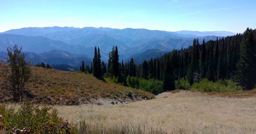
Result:
M256 0L0 0L0 32L46 26L242 33Z

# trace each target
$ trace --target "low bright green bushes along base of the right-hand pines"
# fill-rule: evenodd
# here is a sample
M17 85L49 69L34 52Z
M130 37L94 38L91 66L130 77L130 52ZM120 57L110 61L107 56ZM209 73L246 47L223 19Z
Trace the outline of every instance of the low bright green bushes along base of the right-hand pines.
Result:
M207 79L202 79L199 83L194 83L192 86L189 85L189 82L180 79L176 81L176 87L180 89L195 89L201 92L237 92L241 91L241 86L237 86L237 83L232 80L218 80L217 82L212 82Z

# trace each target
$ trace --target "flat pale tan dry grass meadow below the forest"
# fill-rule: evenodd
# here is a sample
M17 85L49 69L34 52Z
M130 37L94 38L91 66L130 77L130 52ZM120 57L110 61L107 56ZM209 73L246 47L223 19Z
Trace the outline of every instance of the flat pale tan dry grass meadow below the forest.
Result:
M59 115L73 123L86 120L105 127L140 125L145 131L182 130L194 134L255 134L256 97L213 97L178 91L163 93L153 100L119 105L56 106Z

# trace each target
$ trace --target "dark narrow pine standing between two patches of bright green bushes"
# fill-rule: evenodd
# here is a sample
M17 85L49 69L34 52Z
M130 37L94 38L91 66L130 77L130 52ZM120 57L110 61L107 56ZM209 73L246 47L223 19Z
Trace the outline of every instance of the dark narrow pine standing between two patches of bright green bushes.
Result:
M169 56L165 56L163 71L163 90L170 91L175 89L175 76Z

